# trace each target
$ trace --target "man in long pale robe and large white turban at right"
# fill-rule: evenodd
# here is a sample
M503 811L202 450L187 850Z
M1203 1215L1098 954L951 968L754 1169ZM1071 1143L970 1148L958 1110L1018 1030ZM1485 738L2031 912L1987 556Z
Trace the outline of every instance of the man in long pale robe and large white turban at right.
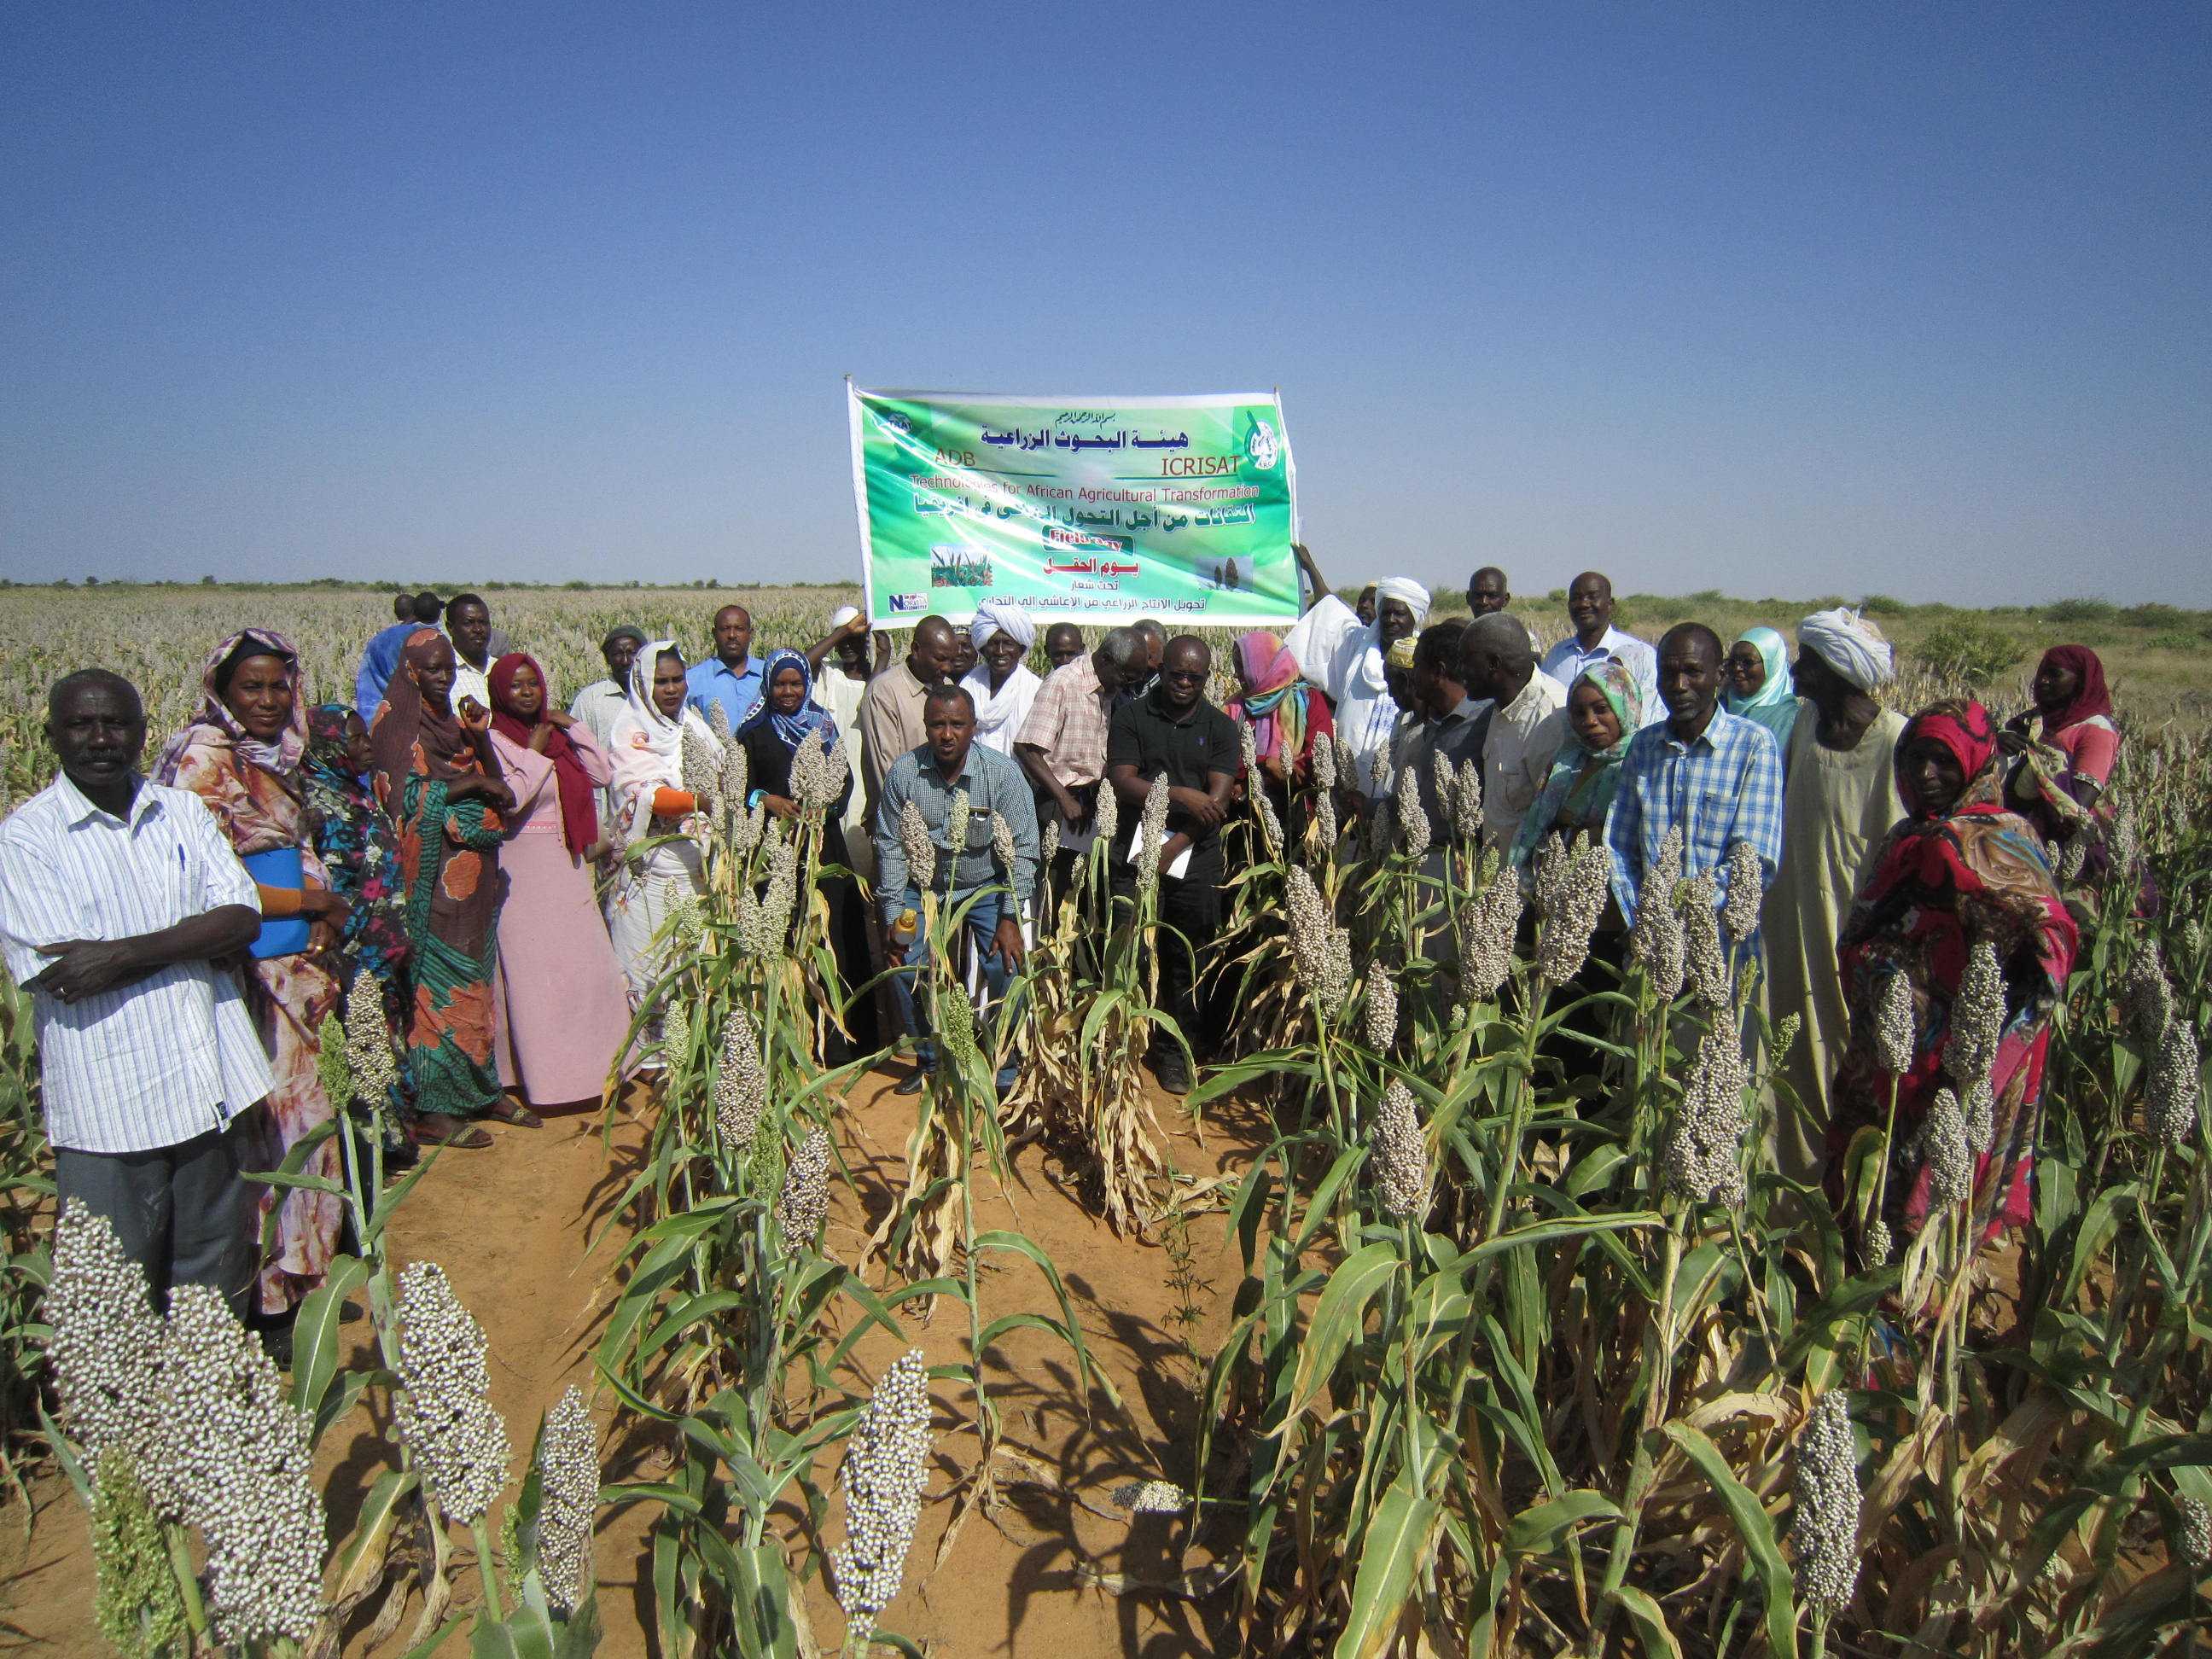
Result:
M1867 860L1898 821L1898 737L1905 717L1874 701L1896 675L1882 630L1856 611L1820 611L1798 624L1790 670L1812 719L1790 730L1783 787L1783 858L1761 911L1767 945L1767 1015L1798 1015L1783 1060L1794 1102L1776 1102L1774 1157L1783 1175L1812 1181L1827 1144L1827 1084L1851 1035L1836 971L1836 938Z

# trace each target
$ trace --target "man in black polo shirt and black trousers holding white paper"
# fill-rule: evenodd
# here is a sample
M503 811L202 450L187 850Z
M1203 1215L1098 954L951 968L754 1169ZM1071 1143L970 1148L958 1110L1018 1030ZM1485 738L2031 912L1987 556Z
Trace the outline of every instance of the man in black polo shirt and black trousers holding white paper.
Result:
M1159 920L1181 933L1159 958L1159 1004L1199 1053L1208 1048L1197 998L1197 953L1221 931L1221 818L1243 765L1237 721L1206 701L1214 655L1197 635L1177 635L1159 659L1159 681L1113 714L1106 732L1106 781L1121 801L1121 823L1139 834L1152 779L1168 779L1168 841L1159 849ZM1190 854L1179 876L1175 863ZM1133 896L1137 872L1126 849L1115 854L1115 894ZM1170 1095L1190 1093L1183 1051L1152 1033L1152 1071Z

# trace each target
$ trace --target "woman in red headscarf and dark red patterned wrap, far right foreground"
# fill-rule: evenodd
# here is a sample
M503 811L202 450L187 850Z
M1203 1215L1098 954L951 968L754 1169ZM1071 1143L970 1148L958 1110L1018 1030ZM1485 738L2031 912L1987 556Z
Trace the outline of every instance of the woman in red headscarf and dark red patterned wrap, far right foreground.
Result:
M1896 750L1905 821L1882 841L1843 929L1838 960L1851 1040L1832 1091L1829 1199L1845 1214L1845 1152L1863 1126L1889 1115L1889 1073L1876 1051L1882 995L1902 980L1911 1002L1911 1060L1898 1077L1889 1135L1885 1223L1918 1232L1931 1210L1920 1137L1949 1091L1969 1126L1973 1237L2031 1217L2051 1013L2066 993L2077 929L2044 858L2042 838L2004 805L1997 732L1989 710L1942 701L1905 726ZM1964 1031L1960 989L1978 942L1995 949L2002 1013L1993 1051ZM1982 1084L1986 1082L1986 1095Z

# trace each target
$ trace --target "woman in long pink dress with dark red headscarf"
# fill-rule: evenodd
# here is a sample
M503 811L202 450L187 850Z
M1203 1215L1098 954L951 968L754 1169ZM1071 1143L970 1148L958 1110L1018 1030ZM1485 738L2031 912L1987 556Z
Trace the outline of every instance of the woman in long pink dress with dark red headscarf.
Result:
M531 1106L593 1102L630 1031L593 891L597 801L613 765L580 721L549 706L544 670L520 650L491 666L491 748L515 792L491 991L500 1084Z

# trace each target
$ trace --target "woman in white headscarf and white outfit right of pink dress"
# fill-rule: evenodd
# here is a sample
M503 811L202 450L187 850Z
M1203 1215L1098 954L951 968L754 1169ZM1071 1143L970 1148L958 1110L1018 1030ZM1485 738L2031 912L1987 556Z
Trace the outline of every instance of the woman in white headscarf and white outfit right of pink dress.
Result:
M677 905L706 889L699 845L684 834L684 821L699 810L699 799L684 787L684 732L717 754L721 743L684 699L684 653L675 639L648 639L630 659L628 708L615 719L615 805L622 810L615 827L628 852L606 900L606 927L633 1009L661 975L655 947L661 927Z

